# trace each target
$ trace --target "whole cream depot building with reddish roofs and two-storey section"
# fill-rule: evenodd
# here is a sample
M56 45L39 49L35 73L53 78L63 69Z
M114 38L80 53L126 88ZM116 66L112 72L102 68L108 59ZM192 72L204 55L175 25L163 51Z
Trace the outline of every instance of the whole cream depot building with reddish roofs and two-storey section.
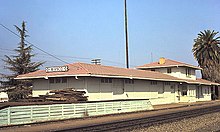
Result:
M47 67L15 79L33 81L33 96L50 90L86 91L89 101L149 99L152 104L209 101L219 95L220 84L196 78L200 67L160 58L136 69L87 63Z

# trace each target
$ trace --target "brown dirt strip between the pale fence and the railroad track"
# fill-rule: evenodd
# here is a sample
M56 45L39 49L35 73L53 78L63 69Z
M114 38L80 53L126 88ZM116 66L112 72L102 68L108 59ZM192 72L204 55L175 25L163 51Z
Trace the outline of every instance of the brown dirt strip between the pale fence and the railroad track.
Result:
M155 105L154 110L149 110L149 111L105 115L105 116L79 118L79 119L69 119L69 120L52 121L52 122L12 126L12 127L3 127L3 128L0 128L0 131L1 132L55 131L55 130L62 130L65 128L75 128L79 126L90 126L94 124L117 122L117 121L137 119L137 118L143 118L143 117L147 118L147 117L172 113L172 112L181 111L181 110L202 108L202 107L209 106L209 105L220 105L220 101Z

